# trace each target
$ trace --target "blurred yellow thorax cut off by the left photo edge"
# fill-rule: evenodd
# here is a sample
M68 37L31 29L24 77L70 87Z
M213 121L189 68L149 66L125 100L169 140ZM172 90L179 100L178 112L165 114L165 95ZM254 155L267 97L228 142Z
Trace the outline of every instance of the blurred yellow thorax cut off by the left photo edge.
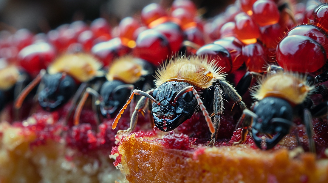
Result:
M19 78L19 71L15 66L0 69L0 90L9 90Z

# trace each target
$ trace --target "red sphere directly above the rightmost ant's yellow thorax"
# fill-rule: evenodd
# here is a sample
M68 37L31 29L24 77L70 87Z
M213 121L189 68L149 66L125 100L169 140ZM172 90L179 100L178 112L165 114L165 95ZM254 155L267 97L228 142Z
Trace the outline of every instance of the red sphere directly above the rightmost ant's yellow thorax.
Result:
M242 56L248 71L262 73L265 70L263 67L267 64L267 58L261 43L256 42L243 46Z

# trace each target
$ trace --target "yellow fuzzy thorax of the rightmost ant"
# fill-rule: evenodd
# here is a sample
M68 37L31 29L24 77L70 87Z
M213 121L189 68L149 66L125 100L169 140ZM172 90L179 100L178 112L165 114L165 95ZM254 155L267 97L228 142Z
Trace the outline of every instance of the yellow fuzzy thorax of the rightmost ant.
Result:
M314 87L306 82L305 76L279 72L268 74L259 81L259 86L254 89L252 95L257 100L265 97L279 97L293 104L301 104L313 89Z

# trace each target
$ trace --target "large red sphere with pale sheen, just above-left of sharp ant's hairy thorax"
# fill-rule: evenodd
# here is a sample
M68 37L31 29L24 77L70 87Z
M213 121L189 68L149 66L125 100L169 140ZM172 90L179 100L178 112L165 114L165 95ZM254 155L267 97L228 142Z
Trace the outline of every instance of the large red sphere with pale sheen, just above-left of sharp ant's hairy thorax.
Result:
M133 55L158 66L171 57L167 38L157 30L148 29L141 32L133 48Z

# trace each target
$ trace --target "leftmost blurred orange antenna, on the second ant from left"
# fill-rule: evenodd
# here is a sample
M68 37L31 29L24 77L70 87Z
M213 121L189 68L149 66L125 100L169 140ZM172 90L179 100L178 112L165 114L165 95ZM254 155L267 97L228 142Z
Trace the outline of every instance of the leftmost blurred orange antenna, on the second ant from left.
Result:
M40 73L33 79L33 81L25 87L25 89L19 93L18 97L15 99L14 106L16 109L22 107L22 104L27 97L27 95L41 82L42 77L46 74L46 70L42 69Z

